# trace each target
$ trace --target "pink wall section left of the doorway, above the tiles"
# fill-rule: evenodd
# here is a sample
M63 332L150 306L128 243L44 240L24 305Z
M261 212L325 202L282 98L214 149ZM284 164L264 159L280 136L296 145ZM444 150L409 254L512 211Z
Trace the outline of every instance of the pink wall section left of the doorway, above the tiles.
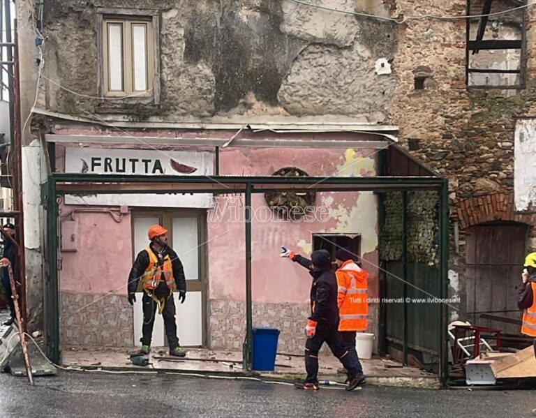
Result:
M68 214L80 206L61 206ZM62 292L126 294L132 267L131 216L121 223L110 214L75 212L78 220L78 251L61 252L59 285ZM70 216L61 221L70 221Z

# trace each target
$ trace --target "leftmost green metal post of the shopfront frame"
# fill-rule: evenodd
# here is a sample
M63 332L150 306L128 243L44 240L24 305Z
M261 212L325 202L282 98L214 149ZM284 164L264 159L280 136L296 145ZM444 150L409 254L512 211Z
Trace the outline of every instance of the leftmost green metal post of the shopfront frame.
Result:
M47 274L45 286L45 335L50 359L58 364L59 352L59 291L58 291L58 207L56 181L47 181Z

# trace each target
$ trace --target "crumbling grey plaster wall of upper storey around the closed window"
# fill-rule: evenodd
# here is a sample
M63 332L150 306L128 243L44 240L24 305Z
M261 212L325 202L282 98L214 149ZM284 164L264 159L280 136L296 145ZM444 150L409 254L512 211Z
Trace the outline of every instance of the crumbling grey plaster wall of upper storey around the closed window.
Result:
M388 13L387 6L373 1L315 3ZM195 7L184 0L47 2L43 74L52 81L41 80L39 107L83 117L140 117L133 105L88 97L98 95L98 7L161 11L161 105L144 106L144 117L177 121L322 114L371 122L387 117L396 74L376 75L375 61L394 58L396 26L289 0L203 0ZM27 15L27 7L20 6L20 13ZM29 40L26 48L32 50Z

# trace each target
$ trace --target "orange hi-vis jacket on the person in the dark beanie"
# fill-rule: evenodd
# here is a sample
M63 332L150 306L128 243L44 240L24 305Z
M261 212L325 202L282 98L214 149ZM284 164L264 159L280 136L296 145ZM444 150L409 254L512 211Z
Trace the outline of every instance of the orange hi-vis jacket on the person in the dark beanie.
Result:
M341 321L339 331L365 331L368 315L368 273L352 260L345 261L336 271L337 305Z

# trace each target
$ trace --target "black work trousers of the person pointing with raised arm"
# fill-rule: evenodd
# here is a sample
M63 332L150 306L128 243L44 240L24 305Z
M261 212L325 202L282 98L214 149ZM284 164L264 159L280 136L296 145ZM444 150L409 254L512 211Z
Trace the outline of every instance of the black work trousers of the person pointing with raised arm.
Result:
M348 378L355 378L362 373L361 364L357 354L343 347L341 336L337 331L338 324L318 324L313 338L308 338L305 343L305 369L307 371L306 382L318 382L318 352L324 343L327 343L335 357L337 357L348 371ZM354 349L355 352L355 349Z

